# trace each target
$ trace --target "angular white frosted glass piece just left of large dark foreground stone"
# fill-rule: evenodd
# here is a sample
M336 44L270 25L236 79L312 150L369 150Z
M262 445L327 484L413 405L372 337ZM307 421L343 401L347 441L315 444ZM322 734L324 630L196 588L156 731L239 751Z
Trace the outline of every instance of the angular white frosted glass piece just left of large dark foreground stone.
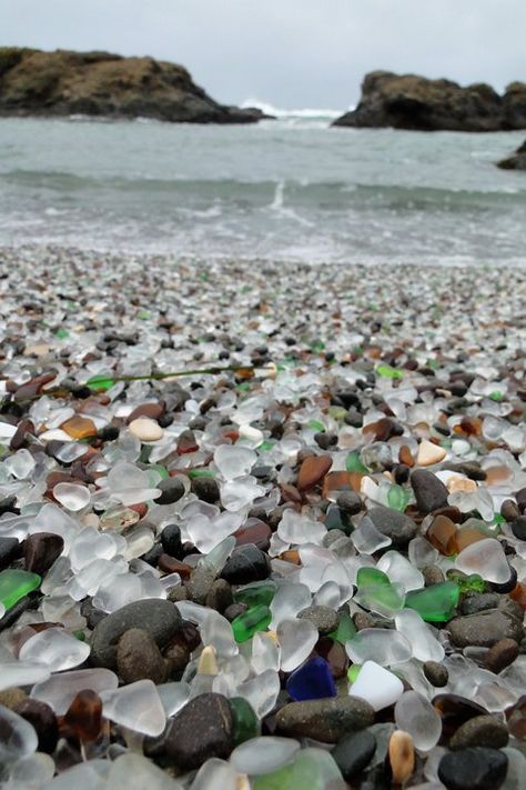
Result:
M155 684L151 680L138 680L114 691L103 691L102 714L115 724L144 736L160 736L166 724Z

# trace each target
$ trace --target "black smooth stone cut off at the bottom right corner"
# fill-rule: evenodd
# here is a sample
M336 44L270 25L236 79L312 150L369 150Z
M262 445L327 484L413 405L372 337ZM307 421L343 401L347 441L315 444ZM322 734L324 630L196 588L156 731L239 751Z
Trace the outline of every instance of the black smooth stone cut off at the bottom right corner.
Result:
M508 759L498 749L472 747L444 754L438 778L447 790L497 790L506 779Z

